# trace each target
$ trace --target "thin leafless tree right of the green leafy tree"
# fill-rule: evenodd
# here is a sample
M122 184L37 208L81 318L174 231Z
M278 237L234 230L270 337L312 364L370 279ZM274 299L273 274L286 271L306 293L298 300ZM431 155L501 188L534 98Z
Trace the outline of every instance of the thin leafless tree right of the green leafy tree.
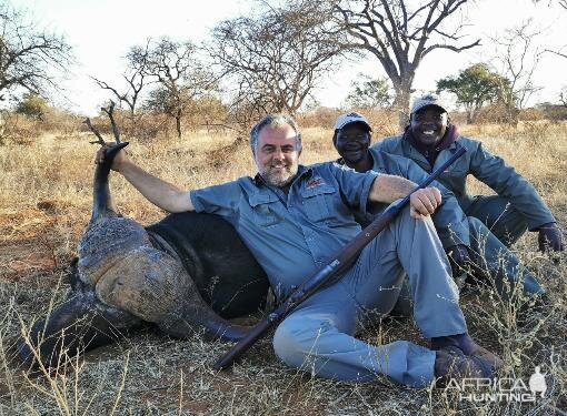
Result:
M519 111L531 94L541 89L534 84L534 73L544 53L536 43L539 31L533 28L533 21L528 19L518 27L506 29L504 34L493 37L497 47L493 62L499 63L496 70L508 82L508 85L499 89L499 99L513 124L517 123Z

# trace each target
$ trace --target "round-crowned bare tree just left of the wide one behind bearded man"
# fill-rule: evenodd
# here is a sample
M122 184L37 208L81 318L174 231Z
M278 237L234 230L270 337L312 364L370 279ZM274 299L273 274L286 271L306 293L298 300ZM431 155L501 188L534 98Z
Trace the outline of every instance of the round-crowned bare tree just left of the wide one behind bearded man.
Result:
M141 73L159 83L153 95L165 100L162 109L175 118L177 135L181 138L181 120L188 100L215 89L217 79L205 68L198 58L197 47L189 41L161 38L150 42L147 53L142 52L142 49L137 50L131 60L141 68Z

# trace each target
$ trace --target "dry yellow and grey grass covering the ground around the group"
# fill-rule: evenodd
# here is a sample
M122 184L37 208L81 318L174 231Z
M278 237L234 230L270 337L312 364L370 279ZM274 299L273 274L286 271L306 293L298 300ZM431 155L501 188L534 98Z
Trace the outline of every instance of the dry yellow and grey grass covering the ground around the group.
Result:
M484 125L462 132L481 138L528 177L567 223L567 125L524 124L519 130ZM304 131L304 163L336 158L331 132ZM525 326L516 307L489 291L462 296L470 332L506 359L503 376L527 384L536 365L547 373L546 398L531 404L459 403L441 389L410 389L386 379L347 384L310 377L280 364L269 337L227 372L211 364L229 348L199 337L172 341L147 331L67 363L57 374L30 375L18 367L13 343L33 319L66 293L66 266L90 216L90 138L44 136L30 145L0 146L0 415L541 415L567 410L567 267L536 251L534 234L516 245L556 302ZM150 172L183 187L206 186L253 174L247 144L228 134L195 133L182 142L132 143L129 152ZM163 213L120 176L113 197L125 215L149 224ZM471 181L475 192L488 192ZM411 319L388 319L362 333L370 342L409 337L424 343Z

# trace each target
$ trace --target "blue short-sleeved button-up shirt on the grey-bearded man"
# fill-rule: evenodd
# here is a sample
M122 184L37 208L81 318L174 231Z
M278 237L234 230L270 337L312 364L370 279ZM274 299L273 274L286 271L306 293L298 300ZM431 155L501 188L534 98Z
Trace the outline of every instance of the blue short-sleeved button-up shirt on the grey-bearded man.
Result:
M246 176L190 192L197 212L230 222L281 298L326 264L359 232L378 173L337 163L299 165L288 193Z

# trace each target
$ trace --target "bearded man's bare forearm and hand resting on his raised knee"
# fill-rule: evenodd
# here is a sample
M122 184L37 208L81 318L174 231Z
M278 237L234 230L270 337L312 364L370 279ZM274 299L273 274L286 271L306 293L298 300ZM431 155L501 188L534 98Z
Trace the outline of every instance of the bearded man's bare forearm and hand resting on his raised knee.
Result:
M391 203L409 194L416 186L416 183L405 177L380 174L374 181L368 197L374 202ZM427 216L441 204L441 193L437 187L418 190L411 194L409 204L412 217Z

